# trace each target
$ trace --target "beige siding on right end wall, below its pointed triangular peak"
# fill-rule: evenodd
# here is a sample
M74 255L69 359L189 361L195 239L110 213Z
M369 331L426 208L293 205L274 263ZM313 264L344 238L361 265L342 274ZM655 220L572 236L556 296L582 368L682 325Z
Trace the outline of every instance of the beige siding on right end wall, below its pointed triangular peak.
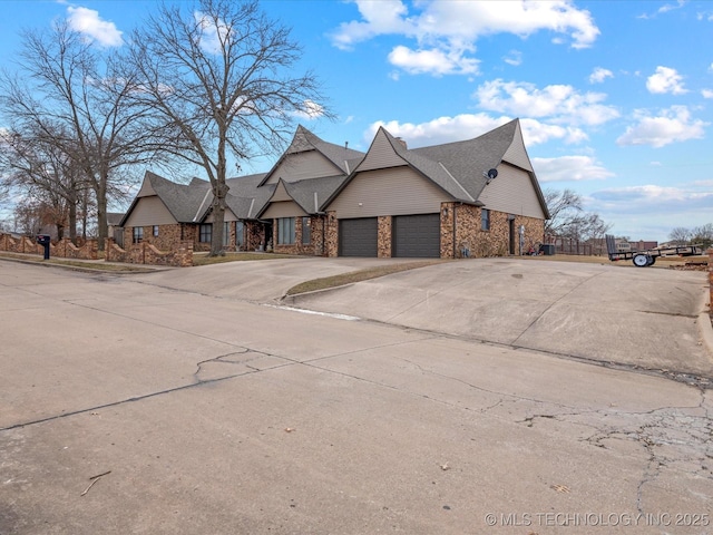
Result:
M478 201L488 210L545 218L529 173L508 164L498 166L498 177L485 187Z

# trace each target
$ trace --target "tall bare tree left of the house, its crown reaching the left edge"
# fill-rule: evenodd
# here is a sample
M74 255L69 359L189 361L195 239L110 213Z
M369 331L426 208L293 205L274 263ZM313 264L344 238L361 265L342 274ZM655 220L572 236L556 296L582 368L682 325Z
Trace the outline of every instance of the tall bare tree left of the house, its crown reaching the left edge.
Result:
M66 21L22 38L18 75L0 78L0 111L11 133L51 143L80 169L94 191L102 249L113 182L126 165L154 157L153 133L139 121L145 110L128 98L135 81L117 76L116 60Z

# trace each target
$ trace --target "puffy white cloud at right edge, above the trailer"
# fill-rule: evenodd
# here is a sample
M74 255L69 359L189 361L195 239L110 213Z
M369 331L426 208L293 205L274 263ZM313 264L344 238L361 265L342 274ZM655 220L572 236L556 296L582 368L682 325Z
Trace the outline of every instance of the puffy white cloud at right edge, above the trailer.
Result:
M701 139L709 123L693 119L686 106L672 106L657 116L645 110L635 113L636 124L626 128L616 143L618 145L651 145L663 147L676 142Z

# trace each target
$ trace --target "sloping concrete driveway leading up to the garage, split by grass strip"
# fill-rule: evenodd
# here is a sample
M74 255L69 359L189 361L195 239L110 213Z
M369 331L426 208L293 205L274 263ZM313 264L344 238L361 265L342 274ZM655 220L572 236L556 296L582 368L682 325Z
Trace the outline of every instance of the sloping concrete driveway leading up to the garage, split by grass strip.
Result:
M309 279L399 262L244 262L135 278L208 295L277 301ZM401 261L402 262L402 261ZM291 296L297 308L537 349L668 376L713 380L703 272L533 259L449 262ZM702 313L704 315L702 315ZM709 334L710 338L710 334ZM696 380L683 377L683 380Z

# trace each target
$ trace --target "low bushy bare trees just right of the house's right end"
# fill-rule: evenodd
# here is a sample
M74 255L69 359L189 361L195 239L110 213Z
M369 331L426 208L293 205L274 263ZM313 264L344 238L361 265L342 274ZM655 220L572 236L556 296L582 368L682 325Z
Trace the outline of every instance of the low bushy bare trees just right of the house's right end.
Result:
M550 215L545 234L586 241L603 237L612 227L598 214L585 212L582 196L572 189L546 189L544 194Z

